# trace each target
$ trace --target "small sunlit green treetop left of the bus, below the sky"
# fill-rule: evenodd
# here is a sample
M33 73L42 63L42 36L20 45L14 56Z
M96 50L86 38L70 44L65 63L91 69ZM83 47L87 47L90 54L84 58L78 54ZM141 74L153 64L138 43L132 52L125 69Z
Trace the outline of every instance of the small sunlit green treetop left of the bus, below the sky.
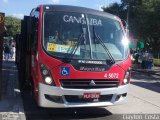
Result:
M12 16L5 17L6 36L15 36L20 33L21 20Z

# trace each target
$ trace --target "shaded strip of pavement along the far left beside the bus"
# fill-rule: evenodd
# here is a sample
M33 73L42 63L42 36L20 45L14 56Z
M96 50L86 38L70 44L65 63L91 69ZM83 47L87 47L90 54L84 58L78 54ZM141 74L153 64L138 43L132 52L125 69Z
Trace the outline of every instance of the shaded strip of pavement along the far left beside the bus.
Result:
M3 61L0 79L2 80L0 112L18 113L20 92L18 91L17 69L14 61Z

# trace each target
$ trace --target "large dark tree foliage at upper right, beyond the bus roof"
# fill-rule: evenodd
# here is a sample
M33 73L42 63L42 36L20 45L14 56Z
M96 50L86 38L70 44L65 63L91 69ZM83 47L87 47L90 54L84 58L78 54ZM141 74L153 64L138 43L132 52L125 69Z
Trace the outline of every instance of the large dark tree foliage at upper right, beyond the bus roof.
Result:
M160 50L160 0L121 0L103 7L105 12L127 19L129 7L129 30L136 39L149 43L154 51ZM136 0L138 1L138 0Z

